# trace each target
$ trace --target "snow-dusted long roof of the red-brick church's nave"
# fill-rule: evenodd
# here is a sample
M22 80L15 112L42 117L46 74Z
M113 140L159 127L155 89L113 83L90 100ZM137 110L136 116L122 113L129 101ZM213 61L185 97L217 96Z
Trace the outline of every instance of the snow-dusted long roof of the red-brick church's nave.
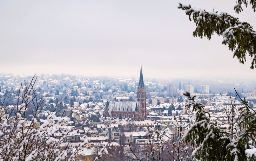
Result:
M135 111L136 107L140 106L141 102L114 102L109 103L108 110L109 111L124 111L124 112L131 112ZM106 109L106 108L105 108Z

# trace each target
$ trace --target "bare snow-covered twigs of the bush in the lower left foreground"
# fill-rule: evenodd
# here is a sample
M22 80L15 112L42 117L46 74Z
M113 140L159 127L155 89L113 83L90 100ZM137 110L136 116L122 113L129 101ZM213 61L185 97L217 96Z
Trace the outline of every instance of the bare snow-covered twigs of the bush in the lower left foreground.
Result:
M83 135L77 148L67 141L71 129L68 128L68 119L56 117L56 109L48 115L47 120L39 127L35 126L40 116L45 98L38 98L34 89L36 78L33 77L30 84L21 83L19 98L12 113L13 117L5 119L3 116L7 110L1 104L0 107L0 160L3 161L50 161L50 160L75 160L76 155L83 146L88 143L88 137ZM31 121L26 122L26 110L32 107ZM22 110L25 109L25 110ZM57 120L57 122L55 121ZM26 123L26 127L23 125ZM56 137L54 134L60 132ZM66 144L66 148L60 149L60 145ZM70 153L71 155L67 155ZM107 154L101 151L102 154ZM99 153L99 154L101 154ZM102 156L102 155L98 155Z

